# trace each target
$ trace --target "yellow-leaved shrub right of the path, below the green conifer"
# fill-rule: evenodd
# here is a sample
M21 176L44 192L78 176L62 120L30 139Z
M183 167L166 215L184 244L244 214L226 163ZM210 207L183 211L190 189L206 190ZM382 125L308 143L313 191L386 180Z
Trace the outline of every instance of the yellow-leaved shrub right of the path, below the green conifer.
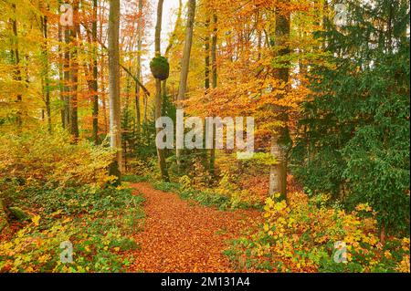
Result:
M277 198L279 197L276 196ZM238 268L276 272L409 272L409 238L377 236L376 213L359 204L352 213L327 206L329 196L303 193L290 202L269 198L266 222L233 242L226 251ZM335 243L347 248L347 262L336 263Z

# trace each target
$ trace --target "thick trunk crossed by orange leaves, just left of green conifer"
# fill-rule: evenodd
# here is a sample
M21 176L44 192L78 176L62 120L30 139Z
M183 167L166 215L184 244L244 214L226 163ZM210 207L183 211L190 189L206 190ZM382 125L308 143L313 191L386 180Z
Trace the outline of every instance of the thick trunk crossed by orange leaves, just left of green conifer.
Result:
M281 2L283 2L282 0ZM276 11L275 28L275 49L278 57L286 56L290 53L290 12L282 11L279 7ZM274 76L279 82L289 86L290 68L289 63L283 64L281 68L275 68ZM279 96L279 99L282 96ZM288 114L285 108L274 107L281 126L275 129L271 137L271 154L276 158L277 164L270 167L269 173L269 194L279 192L282 198L287 199L287 164L288 152L290 151L290 132L288 128Z

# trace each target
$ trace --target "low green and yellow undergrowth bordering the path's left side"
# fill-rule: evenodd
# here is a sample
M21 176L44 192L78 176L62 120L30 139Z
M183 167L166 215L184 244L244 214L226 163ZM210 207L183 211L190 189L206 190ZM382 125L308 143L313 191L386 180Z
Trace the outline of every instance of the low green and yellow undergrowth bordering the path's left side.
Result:
M121 272L132 261L122 254L139 247L131 234L142 227L141 196L131 189L39 190L32 222L0 243L0 272ZM60 261L62 242L73 244L72 264Z

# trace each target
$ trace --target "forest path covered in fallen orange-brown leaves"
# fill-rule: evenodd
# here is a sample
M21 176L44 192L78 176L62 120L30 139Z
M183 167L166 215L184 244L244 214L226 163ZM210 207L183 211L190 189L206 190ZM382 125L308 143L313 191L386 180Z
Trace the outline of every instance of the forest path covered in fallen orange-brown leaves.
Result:
M134 235L130 272L235 272L222 251L227 240L256 222L258 211L223 212L183 201L173 192L154 190L147 182L132 183L145 198L144 229Z

